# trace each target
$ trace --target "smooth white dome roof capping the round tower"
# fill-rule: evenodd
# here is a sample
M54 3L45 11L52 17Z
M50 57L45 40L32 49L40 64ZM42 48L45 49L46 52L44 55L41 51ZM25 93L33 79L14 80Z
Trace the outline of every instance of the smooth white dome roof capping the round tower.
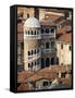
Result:
M39 21L35 17L29 17L24 23L25 27L40 27Z

